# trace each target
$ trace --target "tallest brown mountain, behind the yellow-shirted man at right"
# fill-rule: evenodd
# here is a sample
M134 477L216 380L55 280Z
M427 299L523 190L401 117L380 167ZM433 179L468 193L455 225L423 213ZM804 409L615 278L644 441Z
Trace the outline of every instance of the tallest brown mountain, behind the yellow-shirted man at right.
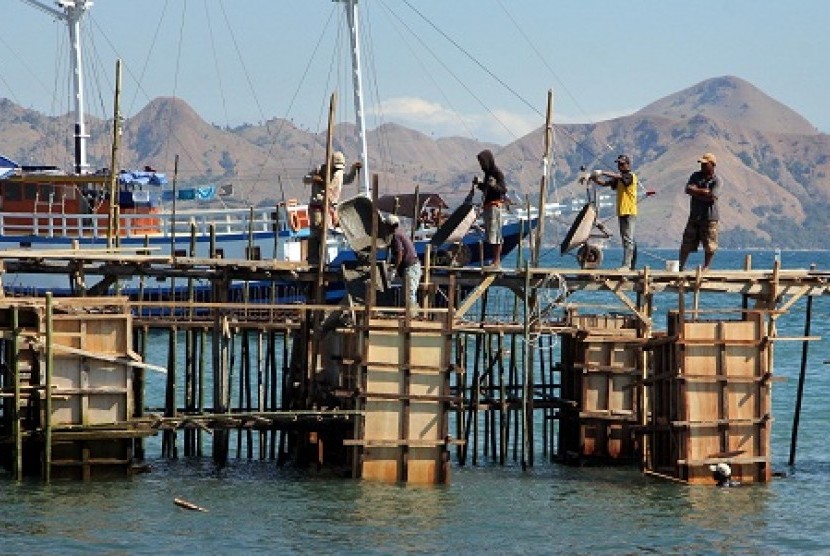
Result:
M562 198L584 196L575 181L581 165L613 169L617 154L632 157L640 181L655 192L639 205L641 245L679 246L689 205L683 188L704 152L717 155L724 183L721 245L815 248L814 238L828 232L830 136L736 77L698 83L630 116L557 129L555 178L565 184L558 190ZM521 158L542 133L507 146L499 160ZM511 172L529 182L533 168L514 163ZM605 216L614 222L613 211Z

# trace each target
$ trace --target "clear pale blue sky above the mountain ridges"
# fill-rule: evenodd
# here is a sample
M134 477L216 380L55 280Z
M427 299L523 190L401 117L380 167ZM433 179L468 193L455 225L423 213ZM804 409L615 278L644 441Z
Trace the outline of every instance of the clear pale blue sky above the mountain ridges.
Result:
M2 0L0 97L62 114L66 26ZM52 2L48 2L53 5ZM508 144L554 121L630 114L712 77L740 77L830 132L828 0L359 0L368 127ZM331 0L95 0L85 21L87 105L133 116L175 96L235 127L352 121L345 9Z

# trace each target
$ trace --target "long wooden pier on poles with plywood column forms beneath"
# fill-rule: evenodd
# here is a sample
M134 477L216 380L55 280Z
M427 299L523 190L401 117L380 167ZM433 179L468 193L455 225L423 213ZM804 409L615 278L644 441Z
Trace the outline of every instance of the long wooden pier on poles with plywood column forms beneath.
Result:
M0 262L78 286L71 298L0 300L0 459L14 477L46 480L140 469L143 438L161 434L163 457L209 449L217 465L388 482L448 482L453 458L527 467L540 456L690 483L728 462L738 480L768 481L775 344L817 339L780 337L776 322L830 279L749 260L706 273L432 267L409 312L382 269L319 280L296 263L124 250L21 249ZM187 287L90 296L136 276ZM343 281L363 293L340 306L251 293L290 285L313 300ZM166 363L147 364L150 350ZM148 373L161 372L164 398L146 399Z

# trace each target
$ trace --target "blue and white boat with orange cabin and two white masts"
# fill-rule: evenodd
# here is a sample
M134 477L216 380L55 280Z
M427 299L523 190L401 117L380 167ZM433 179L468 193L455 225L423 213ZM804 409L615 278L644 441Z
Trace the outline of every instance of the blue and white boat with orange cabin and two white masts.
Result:
M84 250L109 249L157 256L188 256L241 260L282 260L302 265L307 256L309 233L308 205L288 199L278 206L228 208L200 206L200 201L214 198L216 188L171 189L165 174L152 168L143 171L119 171L113 176L105 169L91 173L86 161L86 131L83 114L83 70L80 22L91 1L60 3L60 10L26 0L65 21L72 45L73 97L75 99L75 164L72 172L54 166L30 166L10 159L0 159L0 249ZM356 2L345 2L349 14L355 75L360 75L357 43ZM362 137L360 159L368 164L365 124L362 122L360 80L355 80L355 102L360 104L358 135ZM117 103L116 103L117 104ZM117 112L117 109L116 109ZM115 120L118 120L116 114ZM113 141L116 140L114 133ZM115 150L115 149L114 149ZM362 196L368 198L368 179L363 172ZM171 204L172 201L172 204ZM179 205L177 206L177 201ZM184 205L184 206L183 206ZM423 207L422 207L423 208ZM432 207L427 207L432 208ZM420 219L418 219L420 220ZM509 217L504 224L506 255L535 224L532 216ZM424 256L435 231L429 225L416 226L416 247ZM475 265L482 262L481 232L471 230L460 240L438 245L436 264ZM327 264L336 270L357 260L349 239L342 230L329 232L326 241ZM131 297L169 298L186 289L183 280L172 279L146 283L140 278L119 280L120 293ZM114 287L112 279L101 278L95 284L78 284L66 276L6 273L3 289L9 295L77 295L79 289L105 294ZM197 284L196 288L209 289ZM177 290L179 288L179 290ZM285 289L290 286L286 285ZM293 293L283 291L281 298ZM337 301L337 299L330 300Z

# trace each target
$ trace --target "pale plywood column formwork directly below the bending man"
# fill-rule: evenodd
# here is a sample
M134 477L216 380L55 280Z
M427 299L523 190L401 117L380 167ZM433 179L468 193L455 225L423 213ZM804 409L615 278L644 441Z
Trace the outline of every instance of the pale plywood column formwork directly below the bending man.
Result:
M440 322L373 318L364 328L358 476L449 482L449 338Z

